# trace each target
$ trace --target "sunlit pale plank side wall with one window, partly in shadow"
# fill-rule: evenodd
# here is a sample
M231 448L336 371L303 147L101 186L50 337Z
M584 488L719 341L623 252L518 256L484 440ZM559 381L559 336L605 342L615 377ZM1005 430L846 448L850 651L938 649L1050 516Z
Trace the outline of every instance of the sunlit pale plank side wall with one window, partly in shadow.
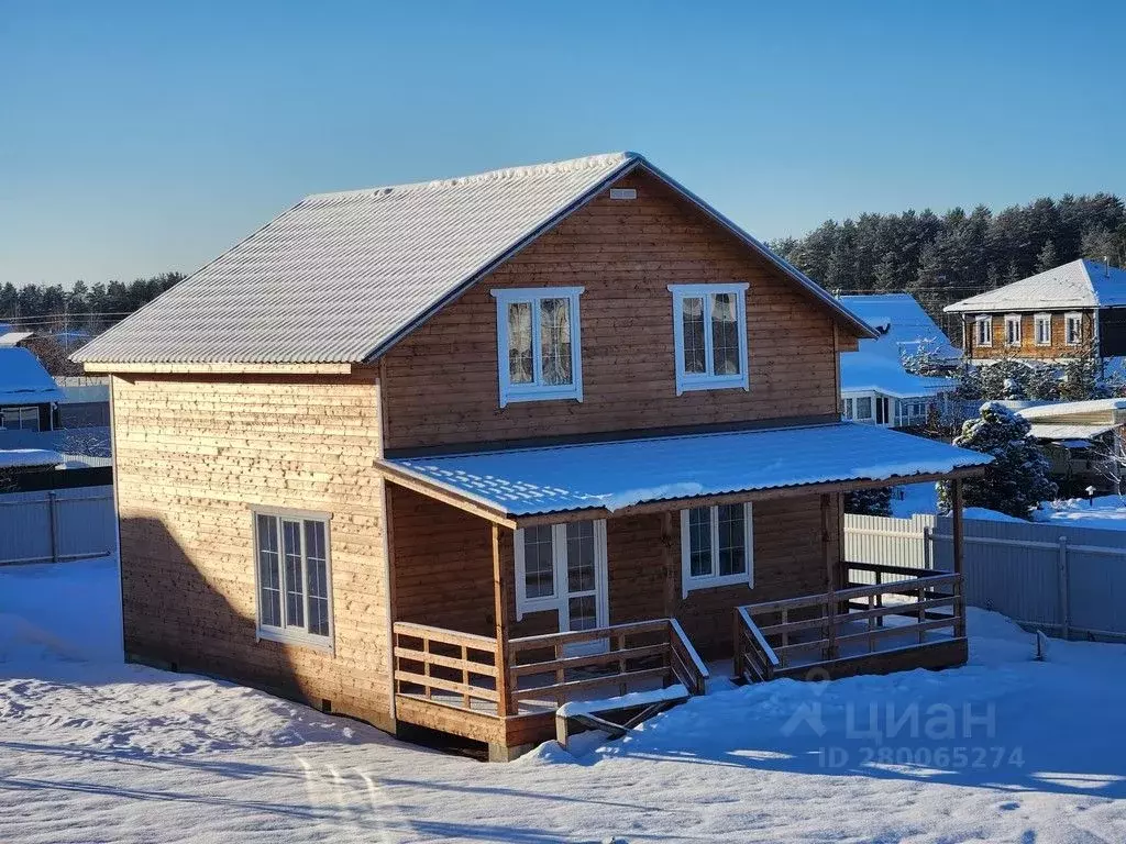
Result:
M114 377L125 648L390 727L374 378ZM250 506L331 514L336 654L256 641Z

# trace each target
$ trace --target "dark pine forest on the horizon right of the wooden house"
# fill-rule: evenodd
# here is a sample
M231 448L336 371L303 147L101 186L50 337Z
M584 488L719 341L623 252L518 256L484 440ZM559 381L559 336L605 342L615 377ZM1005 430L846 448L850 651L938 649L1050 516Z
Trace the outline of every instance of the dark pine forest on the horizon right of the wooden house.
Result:
M1126 206L1094 194L1045 197L995 214L984 205L941 216L861 214L770 245L832 293L905 291L938 317L953 302L1078 258L1126 266Z

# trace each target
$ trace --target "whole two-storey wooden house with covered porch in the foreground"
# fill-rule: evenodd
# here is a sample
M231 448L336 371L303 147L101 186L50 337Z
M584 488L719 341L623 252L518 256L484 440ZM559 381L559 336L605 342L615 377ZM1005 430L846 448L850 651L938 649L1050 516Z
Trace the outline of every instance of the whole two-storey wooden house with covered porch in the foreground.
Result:
M846 638L842 493L990 460L840 421L873 336L634 153L307 197L74 356L111 376L127 656L493 757L701 692L701 654L958 664L957 562Z

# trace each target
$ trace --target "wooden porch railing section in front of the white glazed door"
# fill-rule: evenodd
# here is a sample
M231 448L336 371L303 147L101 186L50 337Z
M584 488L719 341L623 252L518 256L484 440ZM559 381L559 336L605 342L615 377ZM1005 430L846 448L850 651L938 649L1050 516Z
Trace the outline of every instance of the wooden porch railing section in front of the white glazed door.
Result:
M575 648L590 653L575 653ZM654 619L509 641L515 701L562 704L593 690L625 694L638 683L682 683L703 694L708 670L676 619Z

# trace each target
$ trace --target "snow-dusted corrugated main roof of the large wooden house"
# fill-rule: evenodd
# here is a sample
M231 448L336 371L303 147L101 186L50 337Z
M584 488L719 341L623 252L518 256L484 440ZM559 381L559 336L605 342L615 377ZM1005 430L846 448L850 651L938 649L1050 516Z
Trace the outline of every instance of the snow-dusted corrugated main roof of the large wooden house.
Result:
M83 362L359 362L635 167L636 153L307 197L74 353ZM708 206L838 312L848 308Z

